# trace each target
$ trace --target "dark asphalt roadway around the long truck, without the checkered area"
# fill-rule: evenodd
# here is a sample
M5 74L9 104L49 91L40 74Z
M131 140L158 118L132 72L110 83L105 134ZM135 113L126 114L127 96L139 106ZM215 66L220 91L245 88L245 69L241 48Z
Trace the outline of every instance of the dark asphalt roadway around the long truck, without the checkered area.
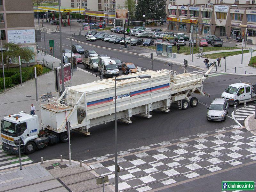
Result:
M54 38L56 48L59 49L59 35L45 34L46 40ZM78 38L77 38L78 39ZM40 43L42 46L44 42ZM48 44L48 43L47 43ZM63 44L66 49L69 49L70 40L63 36ZM102 44L109 44L102 42ZM107 54L110 57L119 58L124 62L133 62L135 65L142 68L150 68L151 63L147 58L138 55L108 50L100 47L93 47L88 44L81 44L84 49L94 49L100 54ZM42 46L43 47L43 46ZM106 47L106 46L105 46ZM48 47L49 49L49 47ZM142 48L143 49L143 48ZM127 50L126 50L127 51ZM60 55L60 54L59 54ZM78 65L83 68L83 66ZM170 67L164 62L154 61L154 70ZM174 65L173 70L182 72L179 65ZM188 70L195 70L188 68ZM118 151L125 151L131 148L147 146L153 143L160 143L175 138L185 137L196 133L212 131L213 129L221 129L230 125L235 125L236 122L231 118L226 118L225 122L209 122L206 120L207 107L211 104L214 98L219 98L221 93L229 84L237 82L255 83L254 76L237 76L237 75L221 75L213 76L204 82L204 91L211 96L197 96L200 101L196 108L188 108L187 110L178 110L176 105L171 106L171 111L168 113L154 110L150 113L151 118L143 118L133 116L132 124L117 123L118 134ZM250 103L249 103L250 104ZM232 112L233 107L230 107L229 112ZM114 122L95 126L90 129L90 136L83 136L79 133L72 132L72 159L89 159L95 156L103 156L114 153ZM53 146L40 149L34 154L29 155L33 162L38 162L43 156L44 159L59 159L60 155L63 158L68 158L68 143L59 143Z

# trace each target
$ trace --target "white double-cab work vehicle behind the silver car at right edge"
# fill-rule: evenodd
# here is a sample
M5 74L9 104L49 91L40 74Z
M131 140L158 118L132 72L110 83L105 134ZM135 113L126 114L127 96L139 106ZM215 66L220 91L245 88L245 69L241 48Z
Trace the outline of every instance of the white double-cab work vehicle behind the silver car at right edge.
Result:
M239 103L255 100L255 97L256 94L254 91L252 92L252 85L245 83L231 84L221 94L221 98L226 99L230 105L236 106L238 106Z

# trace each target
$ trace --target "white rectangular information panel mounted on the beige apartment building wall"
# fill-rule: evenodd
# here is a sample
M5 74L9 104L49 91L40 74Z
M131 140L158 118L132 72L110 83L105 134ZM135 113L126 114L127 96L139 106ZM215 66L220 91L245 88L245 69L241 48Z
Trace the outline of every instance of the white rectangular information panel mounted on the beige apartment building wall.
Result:
M9 43L36 43L35 29L8 30L7 34Z

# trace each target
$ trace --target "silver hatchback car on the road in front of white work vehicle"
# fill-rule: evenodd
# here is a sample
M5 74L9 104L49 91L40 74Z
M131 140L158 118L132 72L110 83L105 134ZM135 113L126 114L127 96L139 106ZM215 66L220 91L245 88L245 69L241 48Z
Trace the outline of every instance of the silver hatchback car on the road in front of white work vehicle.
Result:
M212 101L207 111L207 120L225 121L228 114L228 102L225 99L218 98Z

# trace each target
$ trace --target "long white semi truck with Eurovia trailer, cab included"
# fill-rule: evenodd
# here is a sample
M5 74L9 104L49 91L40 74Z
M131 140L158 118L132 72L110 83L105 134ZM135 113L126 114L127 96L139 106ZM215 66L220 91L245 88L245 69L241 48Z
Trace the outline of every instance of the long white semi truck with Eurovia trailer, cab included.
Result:
M189 104L196 107L197 98L190 96L193 93L205 95L202 81L213 67L204 76L177 74L166 69L130 74L147 74L151 77L116 81L116 98L115 78L67 87L62 95L41 99L40 126L37 115L19 113L4 117L1 122L2 149L18 154L18 147L14 143L20 138L24 142L21 153L26 154L44 148L48 143L67 142L66 122L70 122L71 130L90 135L89 129L93 126L114 120L115 100L117 119L128 124L132 123L130 117L133 115L150 118L150 111L154 109L169 112L174 102L178 109L187 109ZM64 95L66 99L63 99Z

